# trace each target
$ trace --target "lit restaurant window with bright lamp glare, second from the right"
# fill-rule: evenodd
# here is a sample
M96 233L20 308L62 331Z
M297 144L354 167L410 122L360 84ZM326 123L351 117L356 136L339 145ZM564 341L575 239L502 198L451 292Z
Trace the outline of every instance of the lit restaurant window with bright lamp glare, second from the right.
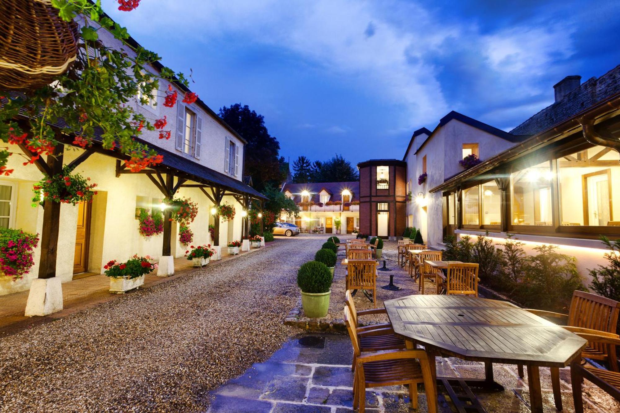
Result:
M550 161L510 174L511 224L552 225L552 181Z

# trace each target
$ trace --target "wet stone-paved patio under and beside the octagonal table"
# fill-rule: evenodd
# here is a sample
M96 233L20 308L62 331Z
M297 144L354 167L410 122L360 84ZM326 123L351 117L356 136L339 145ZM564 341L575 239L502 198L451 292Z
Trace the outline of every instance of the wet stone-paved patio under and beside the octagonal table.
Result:
M346 334L300 334L275 352L265 363L257 363L242 376L229 380L211 393L208 413L306 413L352 411L353 351ZM458 358L436 360L438 376L483 378L484 365ZM494 365L495 381L502 392L472 389L487 412L529 412L527 381L516 375L516 366ZM564 412L573 412L570 372L560 370ZM527 377L525 378L527 380ZM556 412L549 369L541 368L544 409ZM456 412L445 389L439 391L439 411ZM617 412L620 404L593 384L584 383L584 409L587 412ZM427 411L423 386L418 386L417 411ZM403 386L375 388L366 391L369 412L409 412L407 389Z

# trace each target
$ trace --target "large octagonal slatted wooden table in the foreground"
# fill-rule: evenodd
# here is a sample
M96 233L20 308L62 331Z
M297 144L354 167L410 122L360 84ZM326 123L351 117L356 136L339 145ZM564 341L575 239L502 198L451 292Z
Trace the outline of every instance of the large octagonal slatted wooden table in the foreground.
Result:
M581 357L587 341L551 321L507 301L456 295L409 295L384 302L394 332L405 339L408 349L421 344L430 357L446 355L484 362L485 378L437 378L459 412L466 412L463 388L470 402L484 411L469 386L503 391L493 380L492 363L521 363L528 368L531 411L542 412L538 368L565 367ZM431 358L433 360L433 358ZM435 363L431 363L436 377ZM435 384L436 385L436 384ZM471 407L471 405L470 405Z

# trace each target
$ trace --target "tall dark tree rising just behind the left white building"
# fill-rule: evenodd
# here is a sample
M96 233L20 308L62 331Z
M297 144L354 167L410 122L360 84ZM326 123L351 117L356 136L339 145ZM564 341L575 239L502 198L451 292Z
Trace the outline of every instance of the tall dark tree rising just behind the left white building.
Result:
M269 135L265 120L247 105L221 107L219 117L247 141L244 174L252 177L254 187L262 190L267 184L279 185L284 179L280 171L280 143Z

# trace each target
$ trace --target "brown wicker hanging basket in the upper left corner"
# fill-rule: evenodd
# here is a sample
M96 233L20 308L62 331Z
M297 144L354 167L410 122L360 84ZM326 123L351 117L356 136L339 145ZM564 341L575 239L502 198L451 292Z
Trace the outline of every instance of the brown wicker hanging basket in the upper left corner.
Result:
M76 60L78 26L51 0L0 0L0 89L37 89Z

